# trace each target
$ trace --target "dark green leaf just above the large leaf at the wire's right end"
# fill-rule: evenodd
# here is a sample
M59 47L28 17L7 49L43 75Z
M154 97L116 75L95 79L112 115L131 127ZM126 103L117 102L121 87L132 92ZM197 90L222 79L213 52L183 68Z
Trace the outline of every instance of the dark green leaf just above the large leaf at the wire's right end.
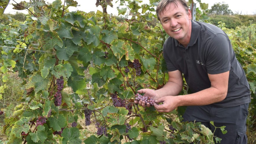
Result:
M56 32L59 34L60 38L62 39L63 37L72 39L74 35L72 34L71 31L72 25L69 23L61 23L60 28L56 30Z

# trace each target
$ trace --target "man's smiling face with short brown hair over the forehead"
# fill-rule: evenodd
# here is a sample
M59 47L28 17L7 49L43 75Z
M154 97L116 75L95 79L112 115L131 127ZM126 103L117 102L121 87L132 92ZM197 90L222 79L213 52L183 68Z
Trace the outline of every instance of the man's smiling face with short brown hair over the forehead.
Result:
M185 8L178 3L175 7L173 3L166 6L163 13L159 13L160 22L165 32L180 43L189 42L191 35L191 12L186 12Z

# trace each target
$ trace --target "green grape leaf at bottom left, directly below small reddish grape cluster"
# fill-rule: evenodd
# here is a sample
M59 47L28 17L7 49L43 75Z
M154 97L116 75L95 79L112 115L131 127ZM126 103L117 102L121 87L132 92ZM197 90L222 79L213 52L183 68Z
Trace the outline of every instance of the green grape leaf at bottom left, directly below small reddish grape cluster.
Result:
M44 143L44 140L46 140L47 138L47 133L45 132L45 127L42 125L38 125L36 127L36 133L29 133L29 135L31 136L31 140L33 140L34 142L38 142L39 140Z

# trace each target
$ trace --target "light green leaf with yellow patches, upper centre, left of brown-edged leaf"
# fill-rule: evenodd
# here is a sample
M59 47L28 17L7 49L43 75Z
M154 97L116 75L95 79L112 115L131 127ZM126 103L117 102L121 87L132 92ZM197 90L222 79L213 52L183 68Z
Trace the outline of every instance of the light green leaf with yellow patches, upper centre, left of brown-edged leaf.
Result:
M122 40L114 40L111 42L111 49L113 50L114 55L118 58L121 59L123 55L125 54L124 50L124 41Z

